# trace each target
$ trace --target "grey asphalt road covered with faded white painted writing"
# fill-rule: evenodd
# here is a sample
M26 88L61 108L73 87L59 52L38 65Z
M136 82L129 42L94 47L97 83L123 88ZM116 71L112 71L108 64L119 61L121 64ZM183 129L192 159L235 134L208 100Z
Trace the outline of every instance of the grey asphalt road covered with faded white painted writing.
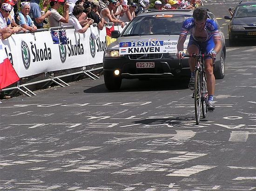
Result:
M205 6L226 30L222 2ZM227 47L216 110L198 126L188 79L109 92L101 76L1 100L0 190L256 190L255 52Z

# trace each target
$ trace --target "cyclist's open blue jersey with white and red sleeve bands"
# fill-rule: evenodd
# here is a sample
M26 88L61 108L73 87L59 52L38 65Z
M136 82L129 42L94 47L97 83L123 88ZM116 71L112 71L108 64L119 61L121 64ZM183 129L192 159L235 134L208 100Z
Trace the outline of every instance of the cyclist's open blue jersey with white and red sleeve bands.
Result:
M220 39L221 40L221 35L220 35L219 30L218 30L218 25L212 19L206 19L206 22L205 22L205 25L204 25L204 30L202 31L202 33L204 33L202 35L202 37L196 37L195 36L194 18L186 19L183 22L180 37L185 37L186 38L189 32L196 41L204 42L204 41L209 40L209 38Z

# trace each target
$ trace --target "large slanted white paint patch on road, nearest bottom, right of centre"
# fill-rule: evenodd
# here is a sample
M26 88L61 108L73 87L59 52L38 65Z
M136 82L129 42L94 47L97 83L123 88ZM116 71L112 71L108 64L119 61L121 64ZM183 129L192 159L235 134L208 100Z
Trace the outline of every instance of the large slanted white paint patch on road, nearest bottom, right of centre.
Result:
M197 166L192 166L192 167L189 167L189 168L184 168L184 169L177 170L175 172L167 174L166 176L189 177L192 174L196 174L198 172L209 170L209 169L215 168L215 167L216 166L197 165Z

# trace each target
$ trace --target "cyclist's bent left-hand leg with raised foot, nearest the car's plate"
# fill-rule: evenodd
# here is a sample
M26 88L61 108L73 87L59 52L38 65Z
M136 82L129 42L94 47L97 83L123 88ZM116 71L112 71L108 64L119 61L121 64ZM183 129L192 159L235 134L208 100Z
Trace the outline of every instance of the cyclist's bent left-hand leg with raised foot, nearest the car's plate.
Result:
M199 45L197 42L194 40L192 35L189 38L189 44L188 44L188 52L189 55L192 55L194 53L199 54ZM193 90L194 89L194 84L195 84L195 64L196 64L196 59L194 57L189 57L189 67L191 71L191 76L189 80L189 89Z

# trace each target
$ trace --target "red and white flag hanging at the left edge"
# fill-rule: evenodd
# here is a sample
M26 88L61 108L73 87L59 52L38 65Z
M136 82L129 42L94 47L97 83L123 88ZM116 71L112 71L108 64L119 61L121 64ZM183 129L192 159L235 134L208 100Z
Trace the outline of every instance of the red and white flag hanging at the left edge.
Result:
M0 40L0 89L19 80L19 76L8 59Z

